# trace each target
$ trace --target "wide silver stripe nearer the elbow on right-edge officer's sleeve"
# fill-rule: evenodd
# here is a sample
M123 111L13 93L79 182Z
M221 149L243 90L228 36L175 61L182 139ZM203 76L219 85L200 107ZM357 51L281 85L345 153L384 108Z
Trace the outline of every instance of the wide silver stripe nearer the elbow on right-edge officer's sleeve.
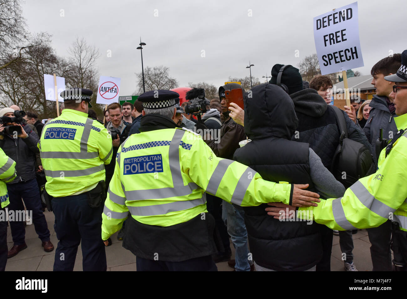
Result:
M366 189L366 187L363 186L360 181L357 181L350 186L350 190L352 190L352 192L366 208L383 218L389 218L389 213L397 210L374 198L374 196L369 193L368 189Z

